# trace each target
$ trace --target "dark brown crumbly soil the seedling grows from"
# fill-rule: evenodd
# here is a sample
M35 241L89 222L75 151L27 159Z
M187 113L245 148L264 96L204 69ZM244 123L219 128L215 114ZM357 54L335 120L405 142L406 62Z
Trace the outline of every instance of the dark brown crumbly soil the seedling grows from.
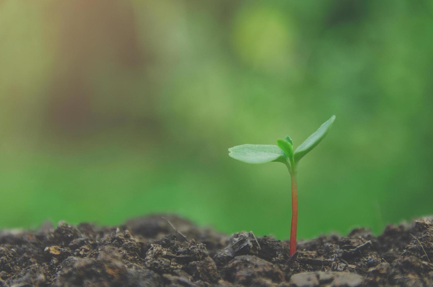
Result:
M3 230L0 287L433 286L433 218L301 241L290 260L288 241L165 218Z

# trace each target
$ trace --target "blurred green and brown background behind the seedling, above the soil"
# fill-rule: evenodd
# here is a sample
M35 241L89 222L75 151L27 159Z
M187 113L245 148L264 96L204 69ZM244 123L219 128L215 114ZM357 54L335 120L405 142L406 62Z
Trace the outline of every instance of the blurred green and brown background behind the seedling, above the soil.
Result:
M433 213L433 2L0 0L0 228L171 212L288 238Z

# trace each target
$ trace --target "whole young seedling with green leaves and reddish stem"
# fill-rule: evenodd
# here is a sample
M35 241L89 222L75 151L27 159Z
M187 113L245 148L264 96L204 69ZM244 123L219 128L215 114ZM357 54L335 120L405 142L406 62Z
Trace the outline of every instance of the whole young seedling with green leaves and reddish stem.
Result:
M299 160L320 143L330 130L335 120L333 115L323 123L319 129L308 137L296 150L293 150L293 142L289 136L277 140L278 146L271 144L242 144L229 148L229 156L244 163L269 163L276 161L284 163L290 173L292 187L292 222L290 228L290 256L296 252L297 230L297 166Z

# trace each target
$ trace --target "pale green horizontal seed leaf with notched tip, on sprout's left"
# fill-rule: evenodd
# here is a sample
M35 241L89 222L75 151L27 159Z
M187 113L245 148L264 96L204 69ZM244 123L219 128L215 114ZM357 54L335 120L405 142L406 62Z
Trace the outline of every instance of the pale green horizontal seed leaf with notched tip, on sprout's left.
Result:
M272 144L242 144L229 148L229 156L244 163L269 163L272 161L284 162L284 152Z

